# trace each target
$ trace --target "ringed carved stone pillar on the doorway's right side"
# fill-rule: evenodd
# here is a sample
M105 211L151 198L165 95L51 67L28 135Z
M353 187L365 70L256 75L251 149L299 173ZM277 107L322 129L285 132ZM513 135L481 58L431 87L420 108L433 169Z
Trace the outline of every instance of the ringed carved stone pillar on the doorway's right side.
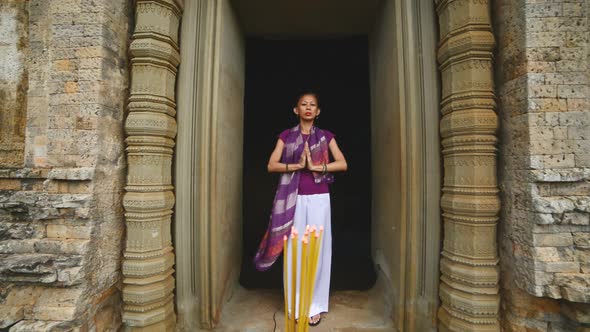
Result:
M496 107L488 0L440 0L444 182L439 329L500 331Z

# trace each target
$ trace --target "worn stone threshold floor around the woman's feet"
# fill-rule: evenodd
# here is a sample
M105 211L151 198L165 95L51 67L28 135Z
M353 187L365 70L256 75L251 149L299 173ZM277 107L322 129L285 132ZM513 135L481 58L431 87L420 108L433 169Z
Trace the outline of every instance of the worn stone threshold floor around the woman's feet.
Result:
M330 312L322 315L313 332L395 332L389 307L379 303L377 290L337 291L330 295ZM276 312L276 314L275 314ZM275 314L275 323L273 321ZM247 290L238 287L221 314L215 331L284 331L284 306L281 290Z

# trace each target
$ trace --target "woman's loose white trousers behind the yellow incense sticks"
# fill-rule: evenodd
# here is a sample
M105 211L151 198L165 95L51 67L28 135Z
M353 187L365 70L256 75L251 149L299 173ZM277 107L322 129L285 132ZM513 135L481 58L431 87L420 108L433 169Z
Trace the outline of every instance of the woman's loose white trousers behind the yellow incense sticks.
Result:
M297 205L295 207L294 227L299 232L297 241L297 280L295 297L295 317L299 317L299 286L301 275L301 237L305 233L306 225L316 225L318 230L320 226L324 227L324 234L318 257L318 268L315 278L315 287L311 307L309 308L309 317L315 316L322 312L328 311L328 302L330 297L330 269L332 264L332 228L330 222L330 194L316 195L298 195ZM287 252L291 252L291 241L288 241ZM287 294L289 313L291 310L291 255L283 257L287 259Z

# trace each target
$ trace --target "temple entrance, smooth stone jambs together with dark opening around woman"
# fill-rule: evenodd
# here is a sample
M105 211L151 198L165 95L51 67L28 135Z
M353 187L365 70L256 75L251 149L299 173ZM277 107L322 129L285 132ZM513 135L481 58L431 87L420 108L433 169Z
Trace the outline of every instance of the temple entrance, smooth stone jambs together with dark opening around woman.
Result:
M348 174L332 187L333 202L343 204L333 206L333 225L342 223L340 238L334 230L334 248L339 240L362 239L356 252L365 265L359 274L364 273L364 282L351 286L338 279L358 266L347 266L344 252L342 270L336 271L335 252L333 285L370 288L359 299L376 304L373 310L384 313L399 331L435 330L441 172L434 17L429 1L186 3L175 154L181 328L223 326L224 308L244 294L243 286L258 295L264 293L256 291L262 285L281 287L280 264L268 280L245 276L276 185L276 177L266 174L267 158L278 132L296 123L290 110L303 88L320 93L324 104L318 125L325 123L336 133L349 161ZM277 57L287 62L289 49L299 45L305 48L298 59L310 57L307 48L317 50L318 60L327 59L317 63L323 69L313 62L302 67L313 69L306 75L317 73L318 78L290 81L285 72L277 73L282 80L266 86L251 81L255 74L249 69L264 68L256 67L256 61L272 65L262 54L282 50L286 53ZM342 52L357 54L359 63L335 57L338 47L348 47ZM329 72L331 65L341 72ZM282 68L306 73L291 63ZM358 77L360 83L346 84L338 75ZM335 77L339 82L330 82ZM265 89L271 89L266 99ZM342 110L350 103L358 118Z

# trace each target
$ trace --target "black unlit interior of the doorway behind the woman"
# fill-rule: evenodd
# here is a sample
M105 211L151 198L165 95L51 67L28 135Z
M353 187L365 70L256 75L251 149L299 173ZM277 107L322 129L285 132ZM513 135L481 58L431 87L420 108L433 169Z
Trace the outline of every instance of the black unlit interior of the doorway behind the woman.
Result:
M282 288L282 258L266 272L252 258L269 222L278 174L266 166L279 133L298 123L292 109L301 92L319 94L316 125L332 131L348 162L330 187L332 290L366 290L375 283L370 254L371 146L368 41L246 41L244 101L243 260L246 288Z

